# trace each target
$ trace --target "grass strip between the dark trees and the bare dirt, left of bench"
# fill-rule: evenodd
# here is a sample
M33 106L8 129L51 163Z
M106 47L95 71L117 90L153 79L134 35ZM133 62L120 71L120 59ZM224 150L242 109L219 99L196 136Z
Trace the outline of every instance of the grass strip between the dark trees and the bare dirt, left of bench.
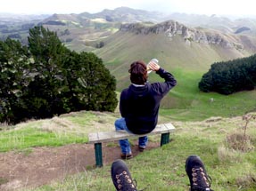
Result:
M115 114L78 112L52 119L20 123L0 131L0 152L29 147L60 147L71 143L86 143L90 131L107 131ZM95 128L97 126L97 128ZM113 127L112 127L113 128Z

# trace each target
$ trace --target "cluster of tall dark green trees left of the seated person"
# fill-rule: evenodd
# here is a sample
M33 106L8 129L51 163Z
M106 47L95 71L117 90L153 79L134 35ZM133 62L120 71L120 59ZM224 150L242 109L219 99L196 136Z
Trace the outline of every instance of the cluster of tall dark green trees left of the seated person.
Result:
M30 28L28 41L0 41L1 123L115 109L116 80L103 60L70 51L43 26Z

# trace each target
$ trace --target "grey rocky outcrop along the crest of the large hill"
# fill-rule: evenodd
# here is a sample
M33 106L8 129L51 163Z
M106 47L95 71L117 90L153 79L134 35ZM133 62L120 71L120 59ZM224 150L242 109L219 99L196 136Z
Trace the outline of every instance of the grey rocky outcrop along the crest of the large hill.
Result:
M224 48L244 49L244 43L239 39L239 36L235 40L234 37L224 35L221 32L203 30L202 28L188 28L174 20L167 20L150 27L141 23L122 24L120 31L143 35L164 33L166 36L169 36L169 38L181 35L186 41L186 44L190 44L190 42L194 41L202 44L218 44ZM252 52L256 51L255 45L251 48Z

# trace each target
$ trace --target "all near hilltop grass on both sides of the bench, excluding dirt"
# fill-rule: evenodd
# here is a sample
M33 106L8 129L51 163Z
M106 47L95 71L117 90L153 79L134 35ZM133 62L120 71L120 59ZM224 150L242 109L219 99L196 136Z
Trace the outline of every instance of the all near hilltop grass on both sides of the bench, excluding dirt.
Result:
M161 110L162 112L166 111ZM32 146L58 147L72 142L87 142L86 135L89 131L107 131L113 128L112 124L118 116L118 113L79 112L48 120L21 123L0 131L0 149L27 149L25 151L29 155L28 150ZM175 114L173 117L178 118ZM244 135L242 127L245 125L241 116L210 117L207 120L187 122L169 120L167 116L161 115L160 123L163 122L171 122L177 128L173 140L168 145L127 161L139 189L147 187L147 190L188 190L189 181L185 172L188 155L201 156L211 175L214 190L256 189L255 120L250 120L247 125L245 141L241 139ZM95 123L98 130L93 129ZM82 128L85 126L86 128ZM160 138L151 139L155 141ZM106 165L32 190L114 189L110 165Z

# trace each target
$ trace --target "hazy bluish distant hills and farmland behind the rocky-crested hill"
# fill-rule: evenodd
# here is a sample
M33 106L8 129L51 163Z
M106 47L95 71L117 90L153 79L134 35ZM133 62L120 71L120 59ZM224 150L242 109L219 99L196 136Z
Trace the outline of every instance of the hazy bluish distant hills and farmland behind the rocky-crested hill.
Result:
M54 15L12 15L0 14L0 38L17 37L26 43L29 28L44 25L58 33L65 44L71 49L85 49L90 51L99 41L116 32L123 23L161 23L166 20L175 20L188 28L211 28L228 34L256 36L256 20L244 18L231 20L217 15L196 15L186 13L148 12L128 7L119 7L114 10L105 9L102 12L79 14ZM63 26L63 27L61 27ZM67 32L67 30L69 30ZM22 35L21 35L22 34ZM64 35L63 35L64 34ZM91 34L91 35L90 35ZM72 42L72 43L70 43Z

